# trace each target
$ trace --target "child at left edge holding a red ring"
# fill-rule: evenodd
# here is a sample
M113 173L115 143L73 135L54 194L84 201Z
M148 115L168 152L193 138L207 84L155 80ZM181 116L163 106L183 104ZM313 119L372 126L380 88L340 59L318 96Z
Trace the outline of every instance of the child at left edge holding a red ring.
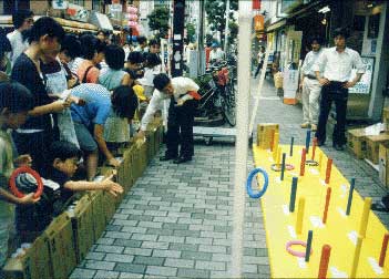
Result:
M0 199L20 206L33 204L38 199L33 194L23 198L13 196L8 190L8 180L13 172L13 164L27 165L31 157L22 155L13 161L13 146L9 130L16 130L23 125L28 111L33 108L33 100L29 90L19 83L3 82L0 84ZM13 221L13 206L0 202L0 268L7 256L7 238ZM11 249L9 249L11 250ZM0 271L1 277L1 271Z

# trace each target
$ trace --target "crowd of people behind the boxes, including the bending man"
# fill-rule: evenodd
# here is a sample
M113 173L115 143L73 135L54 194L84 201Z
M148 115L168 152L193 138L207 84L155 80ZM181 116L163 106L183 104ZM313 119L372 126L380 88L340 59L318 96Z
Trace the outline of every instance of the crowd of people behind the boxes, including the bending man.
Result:
M123 192L110 178L94 182L98 166L120 165L113 151L131 136L144 137L163 100L171 104L161 159L191 161L199 99L191 79L163 73L155 39L139 37L132 49L112 44L103 31L66 34L50 17L34 22L31 11L12 19L14 31L0 34L0 267L44 230L74 192ZM30 194L14 196L9 178L20 166L37 170L50 194L34 198L37 182L22 174L17 186Z

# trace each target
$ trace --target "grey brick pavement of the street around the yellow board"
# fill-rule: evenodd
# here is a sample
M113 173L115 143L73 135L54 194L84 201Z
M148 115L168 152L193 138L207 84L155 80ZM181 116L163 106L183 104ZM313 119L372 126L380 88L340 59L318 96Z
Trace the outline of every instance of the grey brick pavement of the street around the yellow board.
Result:
M257 81L252 80L254 93L256 86ZM281 143L295 136L296 144L304 144L301 108L273 100L276 94L269 84L265 84L262 95L266 100L260 100L257 123L279 123ZM324 149L347 178L357 178L356 188L362 196L379 199L385 194L377 174L366 163L346 152ZM231 143L199 143L190 164L152 161L71 278L228 277L234 156ZM252 162L249 155L249 168ZM379 217L389 224L387 215ZM246 198L244 232L244 277L268 278L265 230L257 200Z

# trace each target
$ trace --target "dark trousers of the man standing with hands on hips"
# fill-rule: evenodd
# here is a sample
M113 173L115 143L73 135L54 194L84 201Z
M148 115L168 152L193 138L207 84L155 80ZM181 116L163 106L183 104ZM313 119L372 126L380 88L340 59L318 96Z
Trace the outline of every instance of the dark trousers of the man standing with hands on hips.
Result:
M341 82L330 82L330 84L321 89L320 115L316 132L316 137L319 142L324 143L326 141L326 125L334 101L336 106L336 125L332 134L332 143L338 145L346 143L345 130L348 89L342 87L342 84Z

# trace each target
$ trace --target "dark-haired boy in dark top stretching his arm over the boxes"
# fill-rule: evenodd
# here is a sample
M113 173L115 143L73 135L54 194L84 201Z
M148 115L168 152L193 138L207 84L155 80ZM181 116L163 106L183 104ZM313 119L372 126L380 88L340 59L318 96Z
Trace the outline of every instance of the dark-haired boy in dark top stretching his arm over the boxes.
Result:
M123 193L122 186L111 180L112 177L102 182L74 182L71 180L81 157L81 151L69 142L54 142L49 148L44 190L42 202L30 207L17 207L16 227L17 244L32 242L50 225L52 217L64 209L64 205L73 192L80 190L108 190L113 196ZM32 178L33 179L33 178ZM28 174L17 178L17 186L21 190L35 189L34 182Z

